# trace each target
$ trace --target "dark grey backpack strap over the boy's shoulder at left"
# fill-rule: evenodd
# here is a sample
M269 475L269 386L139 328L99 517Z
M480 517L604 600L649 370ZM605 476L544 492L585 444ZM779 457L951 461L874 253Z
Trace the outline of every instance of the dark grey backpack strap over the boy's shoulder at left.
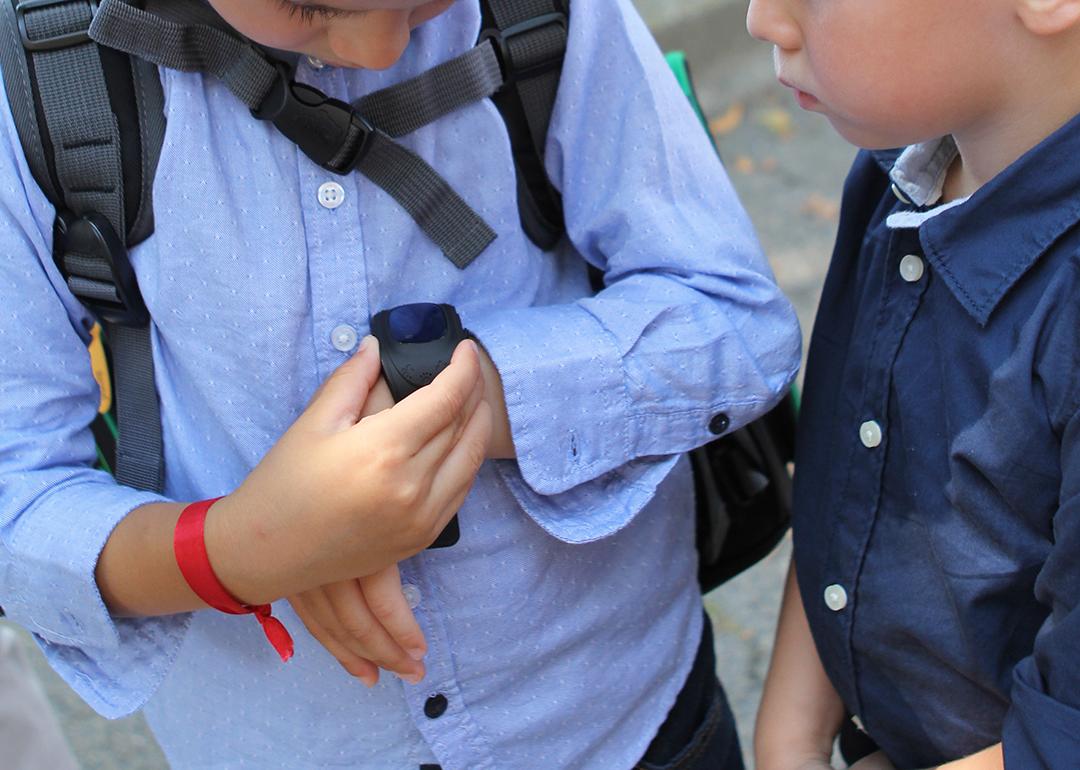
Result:
M117 364L117 478L160 491L149 315L127 247L153 230L163 97L156 70L91 41L96 4L0 1L0 63L31 173L56 208L53 259L71 293L102 320Z

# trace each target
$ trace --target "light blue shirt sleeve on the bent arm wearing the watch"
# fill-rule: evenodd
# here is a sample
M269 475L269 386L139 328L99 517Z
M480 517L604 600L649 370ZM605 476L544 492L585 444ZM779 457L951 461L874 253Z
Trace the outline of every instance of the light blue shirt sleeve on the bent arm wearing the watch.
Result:
M606 287L467 320L503 380L511 487L568 541L625 526L680 452L775 404L800 353L792 306L648 30L624 0L596 5L571 19L548 166Z

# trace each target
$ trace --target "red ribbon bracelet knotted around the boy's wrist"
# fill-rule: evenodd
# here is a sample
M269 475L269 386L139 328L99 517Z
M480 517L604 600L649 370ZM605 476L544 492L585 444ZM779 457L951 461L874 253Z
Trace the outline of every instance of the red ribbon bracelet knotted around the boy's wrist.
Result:
M173 533L176 564L191 590L214 609L229 614L254 614L282 661L287 661L293 657L293 637L288 635L281 621L271 616L270 605L244 605L238 602L221 585L210 564L203 530L206 525L206 512L220 499L193 502L180 513L180 517L176 521L176 531Z

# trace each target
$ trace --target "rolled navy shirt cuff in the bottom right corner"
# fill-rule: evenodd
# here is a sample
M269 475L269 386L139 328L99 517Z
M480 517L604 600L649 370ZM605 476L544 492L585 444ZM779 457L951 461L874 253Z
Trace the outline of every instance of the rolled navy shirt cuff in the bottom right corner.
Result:
M1002 735L1007 770L1071 767L1080 756L1080 711L1045 693L1034 658L1013 672Z

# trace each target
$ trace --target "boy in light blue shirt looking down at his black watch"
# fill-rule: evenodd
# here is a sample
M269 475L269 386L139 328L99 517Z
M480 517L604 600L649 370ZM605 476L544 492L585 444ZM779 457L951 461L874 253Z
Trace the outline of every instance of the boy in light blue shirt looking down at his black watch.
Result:
M481 28L464 0L212 4L309 56L298 80L346 102L468 51ZM685 737L662 727L708 638L680 454L717 415L734 429L767 410L799 337L630 3L571 14L546 148L568 233L554 253L522 230L489 103L401 139L498 235L463 270L380 188L332 178L221 83L162 81L156 232L132 252L153 319L161 496L90 469L84 312L4 123L0 341L32 351L0 356L12 619L99 712L143 707L176 767L607 770L688 746L738 767L715 688ZM605 274L595 296L586 262ZM377 346L355 340L416 301L455 306L481 347L387 409ZM176 569L177 501L218 495L214 571L246 604L288 599L287 665L254 623L194 611ZM460 542L422 551L455 511Z

